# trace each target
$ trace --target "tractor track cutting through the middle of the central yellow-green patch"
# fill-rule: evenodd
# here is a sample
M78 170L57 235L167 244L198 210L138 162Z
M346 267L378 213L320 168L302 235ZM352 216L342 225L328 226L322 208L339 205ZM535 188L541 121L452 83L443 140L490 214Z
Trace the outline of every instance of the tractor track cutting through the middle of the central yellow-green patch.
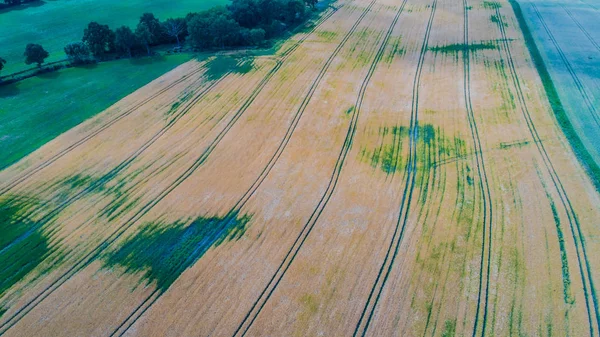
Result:
M396 256L398 255L400 243L404 235L404 229L406 227L406 223L408 222L409 207L413 197L417 173L417 154L415 152L417 147L419 126L419 88L421 83L421 73L423 71L425 55L427 53L427 46L429 44L429 37L431 35L431 28L433 26L436 8L437 0L434 0L431 5L431 13L427 22L427 28L425 30L425 36L423 37L423 43L421 45L419 60L417 63L417 70L415 72L415 77L413 80L410 127L408 131L409 154L404 172L404 176L406 176L406 184L402 193L402 201L400 204L398 220L396 222L394 233L392 235L392 239L390 240L390 245L387 249L385 258L383 260L383 263L381 264L380 270L377 274L377 278L375 279L373 287L371 288L371 291L365 303L365 307L360 314L360 318L354 329L353 336L365 336L367 330L369 329L370 322L373 319L373 315L375 313L375 308L377 307L377 303L379 302L381 293L383 292L387 279L392 271L392 267L394 266L394 261L396 259ZM393 254L391 254L392 251Z

